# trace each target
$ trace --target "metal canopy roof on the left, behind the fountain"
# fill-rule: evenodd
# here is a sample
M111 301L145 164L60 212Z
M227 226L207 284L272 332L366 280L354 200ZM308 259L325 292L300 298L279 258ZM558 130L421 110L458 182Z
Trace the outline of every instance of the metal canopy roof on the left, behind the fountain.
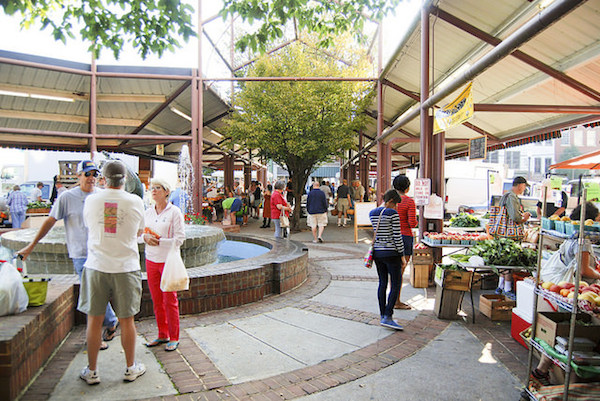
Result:
M91 71L90 64L0 50L0 146L89 150ZM191 138L186 116L191 116L193 71L100 65L96 76L99 136L164 137L99 137L98 150L176 161L187 143L182 136ZM203 163L211 165L226 152L215 146L222 137L211 130L219 131L231 108L207 85L203 106ZM158 143L165 144L164 156L156 155Z

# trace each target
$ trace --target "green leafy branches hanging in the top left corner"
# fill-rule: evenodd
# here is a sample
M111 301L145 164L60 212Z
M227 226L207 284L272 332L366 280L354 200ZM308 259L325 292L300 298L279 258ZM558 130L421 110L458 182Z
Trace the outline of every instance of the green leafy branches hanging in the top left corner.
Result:
M0 0L0 7L7 15L20 14L25 28L36 22L50 28L63 43L79 29L96 57L105 48L119 58L126 40L142 58L161 56L180 47L178 38L196 35L194 8L179 0Z

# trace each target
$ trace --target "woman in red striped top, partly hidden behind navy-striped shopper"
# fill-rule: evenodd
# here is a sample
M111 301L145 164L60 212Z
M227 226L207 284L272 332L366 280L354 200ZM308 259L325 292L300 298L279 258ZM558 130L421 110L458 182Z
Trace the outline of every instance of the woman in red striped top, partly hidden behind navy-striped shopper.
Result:
M396 206L396 211L400 216L400 230L402 232L402 241L404 242L404 264L402 265L402 275L404 275L404 269L410 262L413 249L413 235L412 229L417 227L417 211L415 207L415 201L406 195L410 188L410 180L405 175L399 175L394 178L394 189L398 191L402 201ZM402 288L400 288L402 291ZM396 309L411 309L410 305L400 301L400 294L398 294L398 301L394 306Z

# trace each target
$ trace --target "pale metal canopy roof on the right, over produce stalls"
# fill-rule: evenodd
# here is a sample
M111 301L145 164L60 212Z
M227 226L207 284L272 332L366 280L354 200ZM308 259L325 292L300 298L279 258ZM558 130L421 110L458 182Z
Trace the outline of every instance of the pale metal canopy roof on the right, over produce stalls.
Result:
M488 42L505 40L540 12L539 1L522 0L440 0L430 16L430 82L435 94L444 81L452 81L462 71L489 53ZM561 128L600 119L600 2L587 1L523 44L473 79L474 117L468 124L446 132L446 155L463 152L467 140L489 135L488 146L514 139L544 134ZM420 88L420 16L387 64L384 82L383 114L390 126L399 117L418 107ZM494 39L497 38L497 39ZM484 41L485 40L485 41ZM524 62L523 60L527 61ZM544 71L545 70L545 71ZM565 82L571 82L567 85ZM576 87L577 89L574 89ZM462 90L446 96L437 106L452 101ZM491 105L491 106L490 106ZM495 105L583 106L548 108L525 112L481 111ZM487 106L487 107L486 107ZM590 107L592 106L592 107ZM502 107L502 106L500 106ZM499 108L499 107L498 107ZM377 116L374 103L369 114ZM389 135L395 168L418 159L420 121L406 123ZM376 120L367 128L370 138L377 135ZM411 141L411 136L412 138ZM371 151L375 152L376 148Z

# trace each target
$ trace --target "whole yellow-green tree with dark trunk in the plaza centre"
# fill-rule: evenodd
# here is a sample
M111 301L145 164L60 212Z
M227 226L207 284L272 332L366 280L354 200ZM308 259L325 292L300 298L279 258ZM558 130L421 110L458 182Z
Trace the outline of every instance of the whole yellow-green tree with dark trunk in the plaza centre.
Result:
M362 59L360 59L362 60ZM355 60L358 61L358 60ZM296 42L253 64L249 77L364 76L366 62L341 63ZM232 143L257 149L290 174L295 197L292 228L311 172L355 146L366 124L362 112L372 100L372 83L357 81L246 81L236 94L228 121Z

